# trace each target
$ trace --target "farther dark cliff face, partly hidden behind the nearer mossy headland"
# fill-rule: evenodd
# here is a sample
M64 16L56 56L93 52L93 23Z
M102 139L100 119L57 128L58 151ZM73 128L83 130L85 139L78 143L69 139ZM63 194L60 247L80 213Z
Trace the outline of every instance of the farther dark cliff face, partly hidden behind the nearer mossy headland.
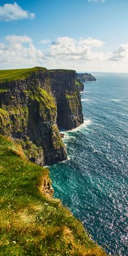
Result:
M70 130L83 123L80 93L75 86L75 71L51 70L52 92L57 103L57 125Z

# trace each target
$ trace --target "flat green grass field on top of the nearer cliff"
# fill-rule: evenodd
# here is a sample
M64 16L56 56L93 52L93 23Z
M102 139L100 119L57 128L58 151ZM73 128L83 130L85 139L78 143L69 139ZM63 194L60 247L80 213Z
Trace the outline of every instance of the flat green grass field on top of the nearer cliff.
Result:
M38 72L39 70L46 71L46 68L34 67L34 68L1 70L0 71L0 83L10 82L12 80L26 79L33 72Z

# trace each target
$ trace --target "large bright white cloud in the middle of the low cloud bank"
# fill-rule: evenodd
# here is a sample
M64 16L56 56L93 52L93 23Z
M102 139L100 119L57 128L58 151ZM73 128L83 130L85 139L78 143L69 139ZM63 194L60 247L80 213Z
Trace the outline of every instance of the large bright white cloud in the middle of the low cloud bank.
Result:
M104 54L101 52L93 52L92 47L102 47L103 41L92 39L74 40L71 37L57 37L57 39L50 44L47 57L56 56L65 60L95 60L103 59Z

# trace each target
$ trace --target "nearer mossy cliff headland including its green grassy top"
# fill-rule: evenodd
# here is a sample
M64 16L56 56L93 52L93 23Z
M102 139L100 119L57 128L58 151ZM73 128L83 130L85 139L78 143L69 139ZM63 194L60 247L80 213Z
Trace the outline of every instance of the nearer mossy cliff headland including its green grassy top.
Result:
M0 134L22 145L32 162L44 165L66 160L67 150L56 124L56 99L47 69L0 73Z

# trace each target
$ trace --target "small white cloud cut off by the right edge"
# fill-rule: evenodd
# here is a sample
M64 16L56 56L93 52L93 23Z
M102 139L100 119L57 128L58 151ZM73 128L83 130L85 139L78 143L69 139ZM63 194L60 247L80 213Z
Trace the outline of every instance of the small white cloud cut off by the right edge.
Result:
M128 43L120 44L110 57L112 61L128 60Z

